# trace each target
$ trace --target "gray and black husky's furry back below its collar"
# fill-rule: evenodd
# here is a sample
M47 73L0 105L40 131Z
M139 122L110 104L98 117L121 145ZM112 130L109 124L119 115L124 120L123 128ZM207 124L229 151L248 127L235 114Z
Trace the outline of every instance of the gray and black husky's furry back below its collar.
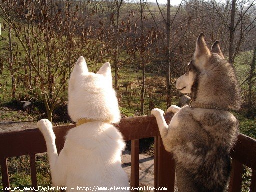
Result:
M182 108L181 132L173 147L180 191L224 191L230 174L230 148L238 122L226 111Z

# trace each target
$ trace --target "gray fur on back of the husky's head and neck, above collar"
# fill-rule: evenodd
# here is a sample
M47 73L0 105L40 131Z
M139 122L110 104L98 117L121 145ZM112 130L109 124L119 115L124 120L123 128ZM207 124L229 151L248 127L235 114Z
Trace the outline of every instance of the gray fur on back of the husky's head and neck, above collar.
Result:
M199 102L239 110L241 90L234 69L218 54L211 54L204 71L200 73L198 84Z

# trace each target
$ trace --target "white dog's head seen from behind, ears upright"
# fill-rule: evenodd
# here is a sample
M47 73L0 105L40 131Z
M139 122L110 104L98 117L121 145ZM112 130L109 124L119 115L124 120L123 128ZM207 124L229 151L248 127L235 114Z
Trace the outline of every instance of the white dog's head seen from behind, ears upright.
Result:
M119 122L120 111L108 62L95 74L88 71L84 58L79 57L69 80L68 113L74 122L83 118Z

